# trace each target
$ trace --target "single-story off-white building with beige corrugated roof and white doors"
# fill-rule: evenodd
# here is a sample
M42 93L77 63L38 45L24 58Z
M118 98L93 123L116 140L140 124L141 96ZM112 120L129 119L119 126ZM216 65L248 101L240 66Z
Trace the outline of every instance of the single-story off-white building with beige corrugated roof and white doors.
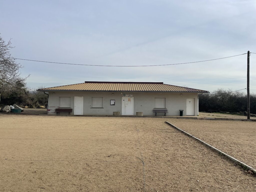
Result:
M72 109L71 115L155 115L154 109L167 109L170 116L179 116L179 110L184 110L183 115L198 115L198 94L209 93L163 82L98 81L37 91L48 92L48 114L56 114L56 109Z

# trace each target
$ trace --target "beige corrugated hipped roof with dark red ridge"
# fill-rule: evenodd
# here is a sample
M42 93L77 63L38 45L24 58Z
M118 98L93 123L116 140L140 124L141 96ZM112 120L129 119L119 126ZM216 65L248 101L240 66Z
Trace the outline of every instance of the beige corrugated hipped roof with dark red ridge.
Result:
M85 81L84 83L38 89L37 91L110 91L110 92L200 92L208 91L192 89L163 82L100 82Z

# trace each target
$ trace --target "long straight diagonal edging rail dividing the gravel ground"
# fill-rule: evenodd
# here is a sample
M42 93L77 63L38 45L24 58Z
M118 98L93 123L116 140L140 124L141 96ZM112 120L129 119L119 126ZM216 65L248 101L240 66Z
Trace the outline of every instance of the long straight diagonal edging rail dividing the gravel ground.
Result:
M255 169L255 168L253 168L253 167L251 167L251 166L249 166L249 165L247 165L247 164L245 164L245 163L243 163L243 162L237 160L237 159L234 158L234 157L231 157L230 155L228 155L228 154L226 154L226 153L224 153L224 152L218 150L217 148L215 148L215 147L209 145L208 143L206 143L206 142L200 140L199 138L197 138L197 137L195 137L195 136L193 136L193 135L187 133L186 131L183 131L182 129L179 129L178 127L176 127L175 125L169 123L168 121L165 121L165 122L166 122L167 124L173 126L174 128L178 129L179 131L181 131L181 132L183 132L183 133L185 133L185 134L187 134L187 135L193 137L194 139L200 141L201 143L207 145L208 147L214 149L215 151L219 152L220 154L225 155L226 157L228 157L229 159L231 159L233 162L236 162L237 164L241 165L244 169L251 170L254 174L256 174L256 169Z

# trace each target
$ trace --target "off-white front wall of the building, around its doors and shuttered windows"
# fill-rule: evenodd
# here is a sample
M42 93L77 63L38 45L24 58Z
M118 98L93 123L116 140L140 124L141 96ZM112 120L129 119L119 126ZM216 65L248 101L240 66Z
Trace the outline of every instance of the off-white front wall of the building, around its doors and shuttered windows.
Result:
M55 93L55 94L53 94ZM114 93L114 95L112 95ZM134 115L136 112L143 112L143 115L155 115L155 98L166 98L166 115L179 116L179 109L183 109L186 115L186 99L195 99L195 115L198 115L198 94L197 93L146 93L146 92L123 92L133 94ZM122 94L120 92L82 92L82 91L52 91L49 92L48 114L56 114L55 109L59 107L59 97L71 97L70 106L74 114L74 96L83 96L83 115L113 115L114 111L122 113ZM92 97L103 97L103 108L92 109ZM110 105L110 100L115 100L115 105ZM157 115L162 115L159 113Z

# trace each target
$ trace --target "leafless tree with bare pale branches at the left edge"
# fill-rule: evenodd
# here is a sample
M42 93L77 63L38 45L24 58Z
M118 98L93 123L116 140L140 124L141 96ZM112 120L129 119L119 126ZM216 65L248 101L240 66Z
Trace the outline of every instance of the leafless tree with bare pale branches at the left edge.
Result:
M19 70L23 66L11 56L9 50L13 47L10 40L5 43L0 34L0 101L1 95L9 94L17 87L25 86L25 80L29 77L29 75L25 78L20 77Z

